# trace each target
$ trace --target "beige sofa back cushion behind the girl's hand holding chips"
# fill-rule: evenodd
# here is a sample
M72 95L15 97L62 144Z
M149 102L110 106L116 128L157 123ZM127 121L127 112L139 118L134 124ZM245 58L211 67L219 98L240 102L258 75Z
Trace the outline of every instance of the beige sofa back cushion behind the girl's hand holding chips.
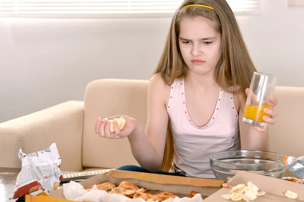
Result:
M106 139L95 133L95 122L113 115L129 115L145 128L147 80L100 79L85 92L82 162L84 167L119 168L138 165L128 138Z

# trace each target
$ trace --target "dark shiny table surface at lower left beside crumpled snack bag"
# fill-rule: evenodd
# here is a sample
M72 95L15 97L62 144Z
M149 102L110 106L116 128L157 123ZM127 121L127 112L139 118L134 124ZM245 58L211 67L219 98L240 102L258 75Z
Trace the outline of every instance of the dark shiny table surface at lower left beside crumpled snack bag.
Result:
M11 199L14 195L16 178L20 169L0 168L0 201L14 202L17 199ZM62 174L75 173L73 171L61 171Z

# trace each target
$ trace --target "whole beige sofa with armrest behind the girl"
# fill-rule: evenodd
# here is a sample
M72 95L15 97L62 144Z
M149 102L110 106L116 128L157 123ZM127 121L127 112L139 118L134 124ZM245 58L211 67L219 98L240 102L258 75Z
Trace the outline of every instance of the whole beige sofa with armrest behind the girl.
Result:
M95 134L98 116L130 115L146 122L147 80L100 79L91 82L84 101L68 101L0 124L0 167L20 168L17 152L45 149L56 142L62 171L138 165L128 139ZM304 155L304 88L277 87L277 124L270 126L270 150Z

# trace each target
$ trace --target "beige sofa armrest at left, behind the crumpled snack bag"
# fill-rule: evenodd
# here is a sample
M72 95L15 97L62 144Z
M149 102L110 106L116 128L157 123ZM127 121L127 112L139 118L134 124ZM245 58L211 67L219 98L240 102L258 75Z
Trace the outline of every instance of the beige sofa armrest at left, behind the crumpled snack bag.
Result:
M0 167L21 168L17 156L56 143L62 171L81 171L84 102L67 101L0 124Z

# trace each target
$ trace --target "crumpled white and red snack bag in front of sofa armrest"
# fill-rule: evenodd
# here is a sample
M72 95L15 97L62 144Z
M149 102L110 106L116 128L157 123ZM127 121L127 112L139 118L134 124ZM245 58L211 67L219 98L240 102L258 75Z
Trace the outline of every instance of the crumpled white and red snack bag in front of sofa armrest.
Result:
M45 150L29 154L22 150L20 148L18 152L22 166L16 179L13 199L40 189L48 192L56 190L63 178L59 169L61 158L56 143Z

